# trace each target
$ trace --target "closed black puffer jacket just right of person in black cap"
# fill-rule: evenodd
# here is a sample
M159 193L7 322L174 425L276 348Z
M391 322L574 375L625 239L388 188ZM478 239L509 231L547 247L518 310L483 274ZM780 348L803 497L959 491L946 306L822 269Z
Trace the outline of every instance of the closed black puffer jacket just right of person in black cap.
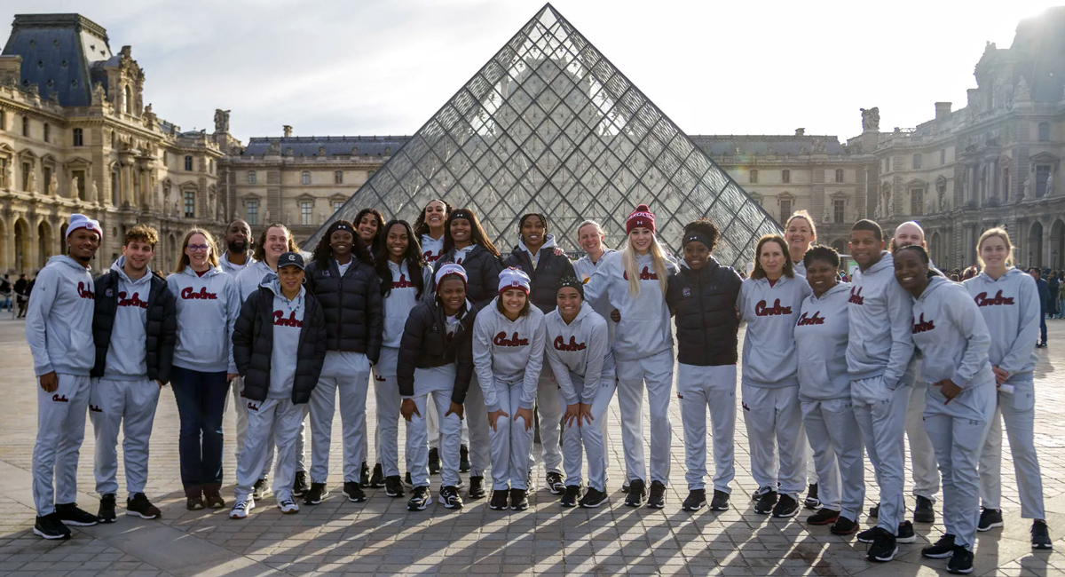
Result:
M365 353L372 363L381 355L384 304L381 280L373 265L353 259L343 277L337 261L329 267L307 265L307 292L314 295L326 317L329 350Z

